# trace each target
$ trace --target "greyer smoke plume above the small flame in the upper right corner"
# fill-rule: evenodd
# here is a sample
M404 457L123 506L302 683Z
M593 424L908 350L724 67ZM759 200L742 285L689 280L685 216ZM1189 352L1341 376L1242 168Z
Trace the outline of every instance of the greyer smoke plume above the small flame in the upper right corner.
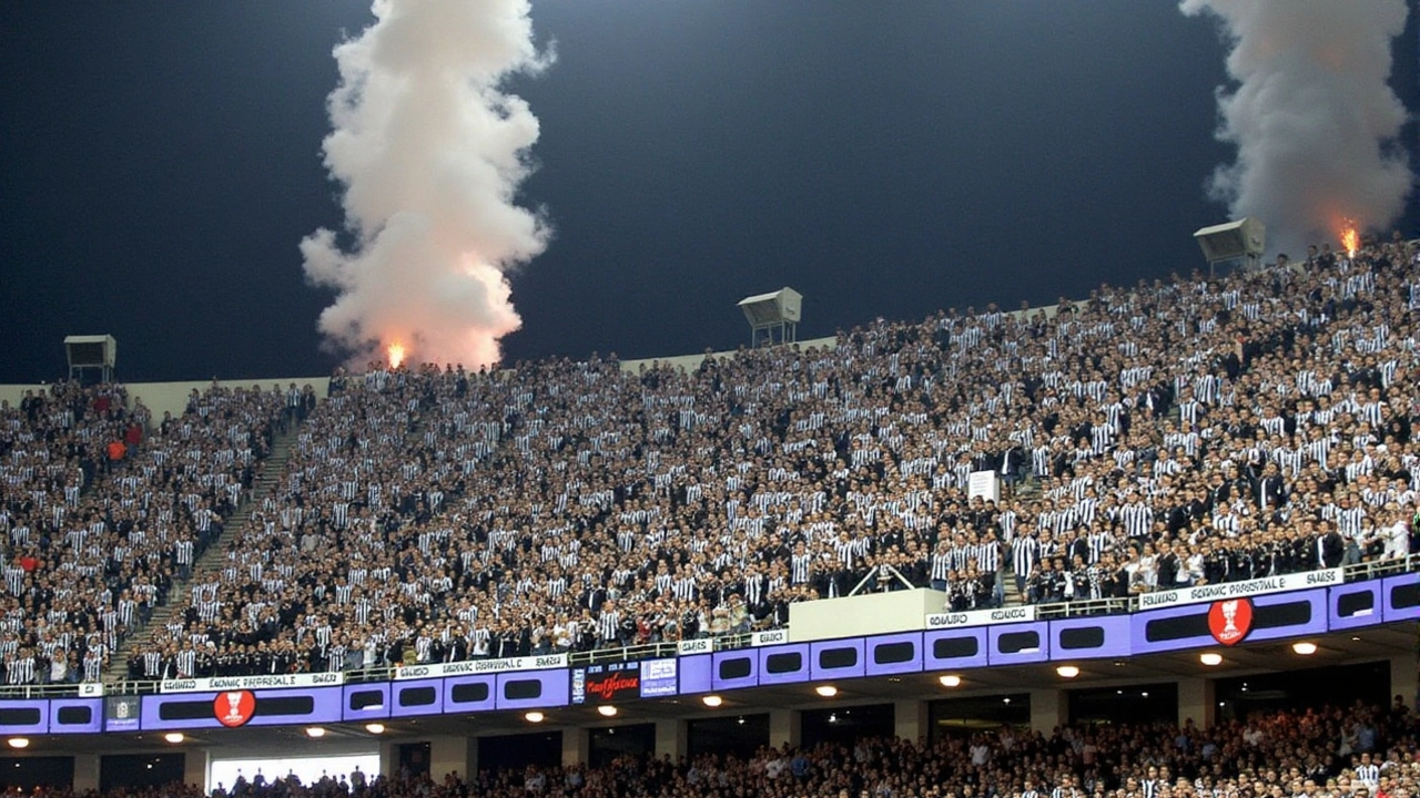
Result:
M1404 0L1183 0L1213 13L1233 51L1218 89L1218 139L1237 145L1210 195L1267 224L1292 253L1335 243L1346 219L1386 229L1413 185L1396 148L1406 109L1386 84Z

